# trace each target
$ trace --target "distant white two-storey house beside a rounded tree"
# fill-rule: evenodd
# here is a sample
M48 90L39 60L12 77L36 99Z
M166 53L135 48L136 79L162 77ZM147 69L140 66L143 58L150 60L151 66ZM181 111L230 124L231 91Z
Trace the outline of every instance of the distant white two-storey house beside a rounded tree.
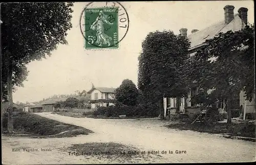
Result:
M91 94L91 109L115 105L115 90L116 88L94 87L93 85L87 92Z

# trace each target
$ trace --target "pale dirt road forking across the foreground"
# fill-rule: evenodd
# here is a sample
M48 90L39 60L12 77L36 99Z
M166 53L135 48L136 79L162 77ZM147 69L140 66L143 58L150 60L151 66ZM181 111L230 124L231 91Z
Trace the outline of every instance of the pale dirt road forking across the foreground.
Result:
M25 137L2 137L3 163L95 163L96 161L84 159L81 156L68 156L68 153L58 150L63 146L87 142L118 142L135 146L142 151L146 151L146 153L148 151L159 151L159 155L162 157L159 157L156 162L162 163L255 161L255 142L227 139L217 134L168 129L162 127L168 122L157 119L106 120L75 118L51 113L37 114L60 122L85 127L95 133L71 138L31 139ZM53 152L40 152L39 154L11 151L17 146L20 148L51 148ZM167 153L162 154L162 151ZM169 151L173 151L173 154L169 154ZM184 152L176 154L177 151ZM141 163L144 162L141 160Z

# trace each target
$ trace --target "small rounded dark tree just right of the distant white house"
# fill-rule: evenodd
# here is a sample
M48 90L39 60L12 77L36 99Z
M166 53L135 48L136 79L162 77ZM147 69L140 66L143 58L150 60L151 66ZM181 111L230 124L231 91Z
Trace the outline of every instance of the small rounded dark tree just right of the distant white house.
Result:
M116 100L124 105L135 106L139 91L132 80L125 79L116 89Z

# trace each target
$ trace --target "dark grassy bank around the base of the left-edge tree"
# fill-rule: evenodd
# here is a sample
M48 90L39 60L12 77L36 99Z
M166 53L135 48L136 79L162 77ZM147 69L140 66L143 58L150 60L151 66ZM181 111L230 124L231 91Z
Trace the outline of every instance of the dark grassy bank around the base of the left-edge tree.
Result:
M18 134L45 137L72 137L93 133L83 127L61 123L36 114L19 112L13 115L13 127ZM7 115L3 116L3 132L7 130Z

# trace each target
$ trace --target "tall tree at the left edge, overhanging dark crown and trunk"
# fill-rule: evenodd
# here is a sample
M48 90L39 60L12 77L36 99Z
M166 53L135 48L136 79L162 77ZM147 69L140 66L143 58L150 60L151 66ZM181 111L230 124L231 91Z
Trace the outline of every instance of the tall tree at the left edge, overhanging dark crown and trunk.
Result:
M2 77L7 86L8 109L12 109L15 78L23 81L26 65L50 56L58 44L67 44L72 6L72 3L2 3L1 60L2 68L6 69ZM15 71L22 68L23 71ZM19 75L21 72L24 76ZM13 132L12 110L8 111L8 131Z

